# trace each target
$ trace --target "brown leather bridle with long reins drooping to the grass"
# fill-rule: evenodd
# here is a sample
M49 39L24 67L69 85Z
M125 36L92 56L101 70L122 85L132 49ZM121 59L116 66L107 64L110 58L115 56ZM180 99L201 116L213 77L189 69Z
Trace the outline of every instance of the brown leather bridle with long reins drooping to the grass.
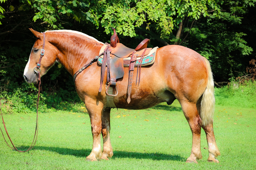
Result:
M35 73L36 73L36 75L37 75L37 84L38 84L38 96L37 96L37 101L36 101L36 130L35 130L35 135L34 135L33 142L32 142L32 144L30 145L30 147L28 148L28 150L26 150L26 151L19 151L19 150L14 146L14 144L13 144L13 142L12 142L12 140L11 140L11 138L10 138L8 132L7 132L7 129L6 129L6 126L5 126L5 123L4 123L4 118L3 118L2 110L1 110L1 108L0 108L0 112L1 112L1 116L2 116L2 121L3 121L3 124L4 124L4 129L5 129L5 132L6 132L7 136L8 136L8 138L9 138L10 142L12 143L13 148L7 143L7 141L6 141L5 137L4 137L4 133L3 133L2 129L1 129L1 127L0 127L0 130L1 130L2 135L3 135L3 137L4 137L4 141L5 141L5 143L6 143L10 148L12 148L13 150L16 150L16 151L18 151L18 152L27 152L27 151L31 150L31 149L35 146L36 140L37 140L37 134L38 134L38 105L39 105L39 96L40 96L40 88L41 88L41 78L40 78L40 71L41 71L41 69L40 69L40 66L41 66L42 57L44 56L45 33L43 33L43 36L44 36L44 40L43 40L43 47L42 47L41 53L40 53L40 59L39 59L38 63L36 64L36 67L34 68L34 71L35 71ZM39 69L39 70L36 71L36 69Z

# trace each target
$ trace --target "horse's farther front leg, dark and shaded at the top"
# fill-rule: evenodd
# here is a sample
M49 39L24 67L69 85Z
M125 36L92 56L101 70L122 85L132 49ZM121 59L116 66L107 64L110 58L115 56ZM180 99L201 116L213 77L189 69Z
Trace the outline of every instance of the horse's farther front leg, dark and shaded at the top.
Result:
M110 143L110 108L106 108L103 111L102 114L102 130L101 134L103 137L103 152L102 152L102 157L101 159L106 159L108 160L108 157L111 158L113 156L113 149Z

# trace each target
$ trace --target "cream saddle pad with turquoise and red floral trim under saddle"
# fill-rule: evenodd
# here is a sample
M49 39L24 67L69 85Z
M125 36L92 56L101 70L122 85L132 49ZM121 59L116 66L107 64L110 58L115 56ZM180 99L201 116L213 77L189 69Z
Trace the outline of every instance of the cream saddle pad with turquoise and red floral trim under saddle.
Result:
M103 45L100 49L100 53L104 52L104 49L106 48L107 45ZM142 60L142 63L141 63L141 67L143 66L147 66L147 65L150 65L150 64L153 64L155 62L155 59L156 59L156 50L157 50L158 47L155 47L153 48L152 50L150 50L150 52L148 53L148 55L145 55L143 57L143 60ZM102 64L102 61L103 61L103 56L104 55L100 55L99 58L98 58L98 63L101 65ZM110 57L111 59L111 57ZM131 60L131 57L127 57L127 58L124 58L124 67L129 67L129 64L130 64L130 60ZM138 66L138 63L139 63L139 60L140 60L140 57L137 57L137 60L135 62L135 67Z

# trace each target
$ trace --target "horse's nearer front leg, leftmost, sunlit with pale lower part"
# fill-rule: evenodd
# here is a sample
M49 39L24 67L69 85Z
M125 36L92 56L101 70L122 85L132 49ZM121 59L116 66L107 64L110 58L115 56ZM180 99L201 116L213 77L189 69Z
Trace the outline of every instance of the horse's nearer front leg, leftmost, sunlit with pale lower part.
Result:
M100 145L100 132L102 129L101 125L101 115L103 111L103 104L101 102L96 102L93 99L85 100L86 109L91 119L92 128L92 152L86 157L86 160L97 161L102 156L101 145Z

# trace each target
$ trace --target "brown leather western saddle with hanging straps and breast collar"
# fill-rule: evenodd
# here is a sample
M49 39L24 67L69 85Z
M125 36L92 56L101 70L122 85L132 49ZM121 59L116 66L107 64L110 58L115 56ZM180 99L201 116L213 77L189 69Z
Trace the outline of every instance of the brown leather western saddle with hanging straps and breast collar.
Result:
M138 59L138 69L137 69L137 77L136 77L136 85L137 85L137 79L138 79L138 73L139 73L139 82L138 85L140 85L140 70L141 70L141 63L143 61L143 57L148 55L150 50L152 48L147 48L149 39L145 39L140 42L140 44L135 48L128 48L125 47L123 44L119 43L119 38L116 34L116 30L114 30L114 34L110 38L110 44L105 43L106 48L104 49L104 52L102 52L99 56L103 55L103 61L101 64L101 75L100 75L100 88L99 92L102 90L102 83L105 76L105 70L107 66L107 83L106 83L106 94L108 96L117 96L117 83L116 79L124 77L124 64L129 65L129 82L128 82L128 99L127 102L130 103L131 101L131 91L132 91L132 77L133 77L133 70L135 66L135 62L137 61L137 57L140 57ZM75 79L77 75L82 72L84 69L86 69L88 66L92 65L92 63L96 62L99 58L99 56L96 56L92 61L81 69L79 69L74 75L73 79L75 82ZM111 57L111 58L110 58ZM124 58L131 57L129 63L124 63ZM107 86L108 85L108 86ZM109 94L108 89L109 87L114 87L116 89L116 94Z

